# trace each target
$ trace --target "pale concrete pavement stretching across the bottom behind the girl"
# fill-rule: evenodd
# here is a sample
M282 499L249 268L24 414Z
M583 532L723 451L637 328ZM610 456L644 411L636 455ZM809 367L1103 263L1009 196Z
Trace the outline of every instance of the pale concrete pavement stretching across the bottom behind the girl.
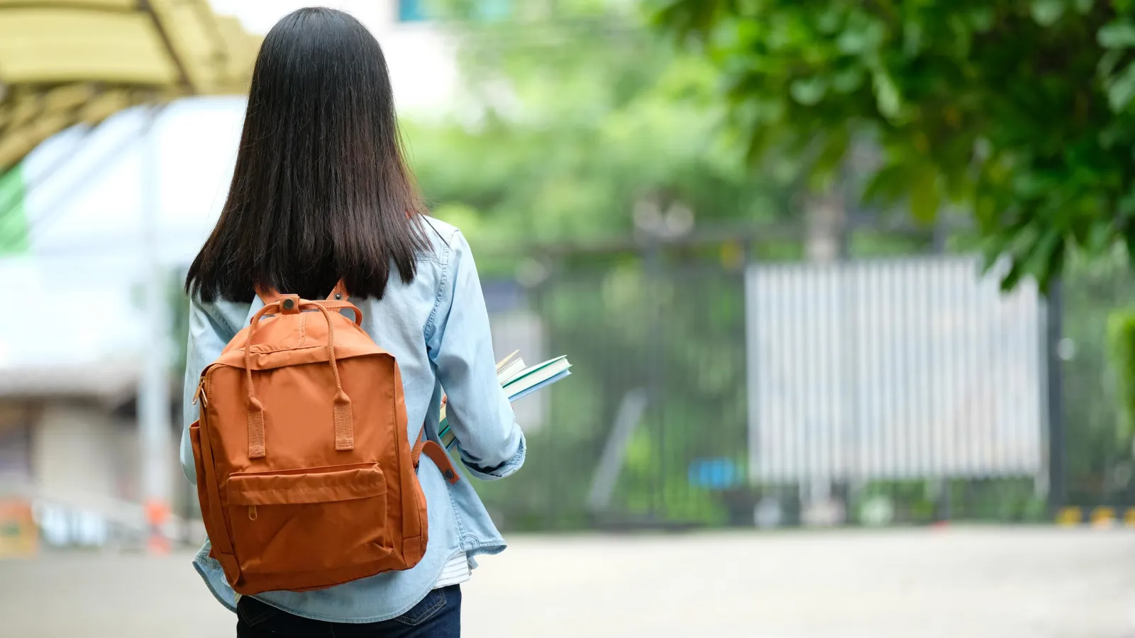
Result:
M484 557L464 635L1132 638L1135 532L532 536ZM233 636L190 554L0 562L0 636Z

